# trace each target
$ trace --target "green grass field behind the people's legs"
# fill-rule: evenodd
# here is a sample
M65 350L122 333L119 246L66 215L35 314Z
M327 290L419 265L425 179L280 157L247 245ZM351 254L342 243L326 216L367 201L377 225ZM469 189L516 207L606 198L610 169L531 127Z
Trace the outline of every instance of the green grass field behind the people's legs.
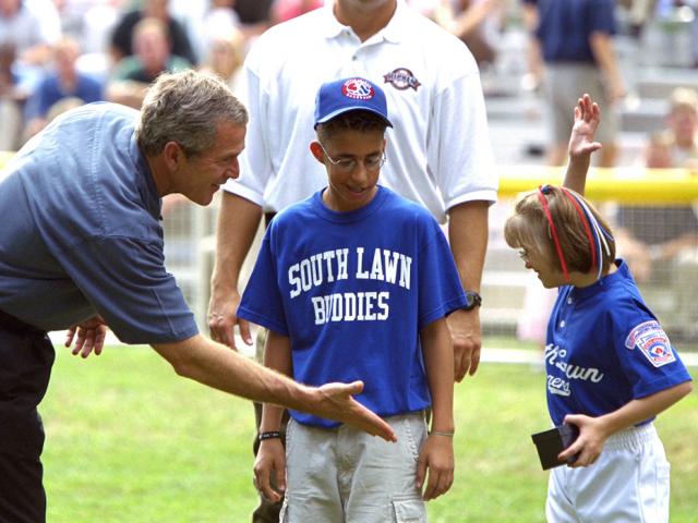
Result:
M40 408L48 521L250 521L249 402L177 377L146 348L85 361L58 352ZM547 475L529 436L549 425L543 374L484 364L457 386L456 409L456 482L429 504L430 521L544 521ZM695 522L698 394L658 427L673 467L672 522Z

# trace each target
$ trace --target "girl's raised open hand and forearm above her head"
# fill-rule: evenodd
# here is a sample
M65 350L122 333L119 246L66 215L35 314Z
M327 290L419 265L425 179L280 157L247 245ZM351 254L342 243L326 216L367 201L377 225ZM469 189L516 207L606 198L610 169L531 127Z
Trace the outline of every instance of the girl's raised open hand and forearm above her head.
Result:
M565 187L582 195L587 184L591 154L601 148L601 144L593 141L599 122L601 122L599 105L585 94L577 100L575 107L575 123L571 126L568 147L569 163L563 182Z

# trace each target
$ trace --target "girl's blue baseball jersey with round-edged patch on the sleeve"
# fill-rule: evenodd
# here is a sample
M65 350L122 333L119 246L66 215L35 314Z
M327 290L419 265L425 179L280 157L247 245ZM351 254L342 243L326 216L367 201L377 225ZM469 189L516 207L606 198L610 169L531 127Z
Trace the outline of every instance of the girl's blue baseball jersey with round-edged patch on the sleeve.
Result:
M601 416L691 379L627 265L616 264L590 287L559 289L545 346L547 409L556 425L566 414Z

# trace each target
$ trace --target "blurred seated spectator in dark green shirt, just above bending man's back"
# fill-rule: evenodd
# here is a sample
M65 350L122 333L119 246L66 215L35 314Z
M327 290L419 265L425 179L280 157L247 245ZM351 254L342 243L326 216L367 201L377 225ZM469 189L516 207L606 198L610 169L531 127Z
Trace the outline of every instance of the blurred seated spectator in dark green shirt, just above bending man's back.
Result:
M133 49L135 54L117 63L107 83L109 101L140 109L148 86L160 73L191 68L186 59L170 53L167 25L159 19L144 19L136 24Z

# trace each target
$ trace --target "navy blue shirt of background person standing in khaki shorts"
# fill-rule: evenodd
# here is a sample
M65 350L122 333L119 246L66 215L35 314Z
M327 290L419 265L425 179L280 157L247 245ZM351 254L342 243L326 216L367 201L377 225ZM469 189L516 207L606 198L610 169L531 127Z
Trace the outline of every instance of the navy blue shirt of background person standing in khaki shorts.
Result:
M546 62L587 62L595 59L589 44L593 33L614 35L612 0L525 0L535 4L535 36Z

